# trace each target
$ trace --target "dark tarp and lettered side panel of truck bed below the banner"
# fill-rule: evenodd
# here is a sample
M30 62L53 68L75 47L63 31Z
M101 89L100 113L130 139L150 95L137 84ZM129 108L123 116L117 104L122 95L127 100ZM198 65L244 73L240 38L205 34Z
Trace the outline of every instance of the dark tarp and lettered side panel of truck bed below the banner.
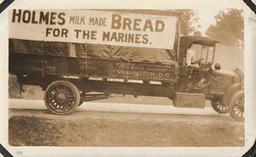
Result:
M15 75L56 75L175 81L173 50L102 44L9 39L9 71Z

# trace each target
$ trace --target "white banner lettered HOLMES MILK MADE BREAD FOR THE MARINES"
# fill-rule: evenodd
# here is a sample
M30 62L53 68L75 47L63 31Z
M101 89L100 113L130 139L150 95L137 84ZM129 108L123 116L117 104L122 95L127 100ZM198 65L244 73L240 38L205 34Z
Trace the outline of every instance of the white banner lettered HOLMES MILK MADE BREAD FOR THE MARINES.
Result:
M9 11L9 37L23 40L173 49L176 31L177 17L172 15L82 9Z

